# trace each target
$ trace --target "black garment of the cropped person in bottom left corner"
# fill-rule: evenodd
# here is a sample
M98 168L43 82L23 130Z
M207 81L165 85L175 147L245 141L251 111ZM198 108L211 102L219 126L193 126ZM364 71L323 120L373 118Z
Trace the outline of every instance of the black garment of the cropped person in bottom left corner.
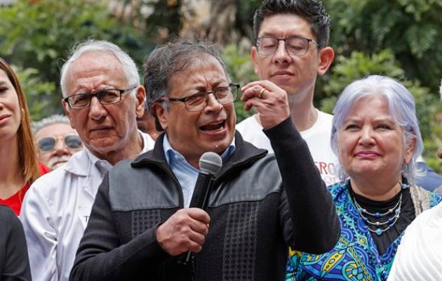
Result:
M11 209L2 205L0 205L0 280L32 280L22 223Z

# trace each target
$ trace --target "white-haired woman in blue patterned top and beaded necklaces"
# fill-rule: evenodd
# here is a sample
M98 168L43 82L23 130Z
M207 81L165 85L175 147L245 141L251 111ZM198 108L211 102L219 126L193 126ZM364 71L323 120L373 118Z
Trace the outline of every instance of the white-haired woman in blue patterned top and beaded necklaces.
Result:
M442 200L415 185L423 150L415 100L378 75L349 84L333 110L341 182L330 185L341 236L326 254L295 252L286 280L387 280L404 230Z

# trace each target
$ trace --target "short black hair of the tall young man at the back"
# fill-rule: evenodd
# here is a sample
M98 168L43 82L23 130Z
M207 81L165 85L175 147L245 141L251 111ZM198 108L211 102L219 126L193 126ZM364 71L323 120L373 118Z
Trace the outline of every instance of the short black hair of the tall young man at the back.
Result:
M262 22L272 15L293 14L307 20L321 48L328 46L330 15L319 0L264 0L253 16L253 33L257 39Z

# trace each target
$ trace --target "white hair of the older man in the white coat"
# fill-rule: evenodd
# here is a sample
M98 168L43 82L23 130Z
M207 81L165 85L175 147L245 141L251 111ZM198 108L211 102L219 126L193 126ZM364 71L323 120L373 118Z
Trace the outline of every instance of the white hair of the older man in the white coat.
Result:
M126 78L126 82L130 86L135 86L140 84L140 74L138 74L137 65L130 56L125 53L119 46L108 41L99 41L94 39L88 39L76 44L69 55L66 63L63 64L60 72L60 87L62 90L62 95L64 97L68 96L66 89L66 79L67 72L75 60L81 57L85 53L107 53L114 55L117 60L123 65L123 73ZM133 96L135 96L135 91L132 91Z

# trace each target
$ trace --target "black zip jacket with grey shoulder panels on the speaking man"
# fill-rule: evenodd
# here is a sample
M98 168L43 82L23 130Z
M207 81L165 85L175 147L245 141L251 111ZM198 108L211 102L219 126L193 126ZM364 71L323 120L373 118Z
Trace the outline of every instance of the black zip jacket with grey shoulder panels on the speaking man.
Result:
M183 207L163 138L109 172L95 198L70 280L283 280L288 246L323 253L339 236L335 207L291 122L265 131L274 155L236 133L236 150L210 194L210 230L193 268L156 242L156 226ZM280 173L281 171L281 173Z

